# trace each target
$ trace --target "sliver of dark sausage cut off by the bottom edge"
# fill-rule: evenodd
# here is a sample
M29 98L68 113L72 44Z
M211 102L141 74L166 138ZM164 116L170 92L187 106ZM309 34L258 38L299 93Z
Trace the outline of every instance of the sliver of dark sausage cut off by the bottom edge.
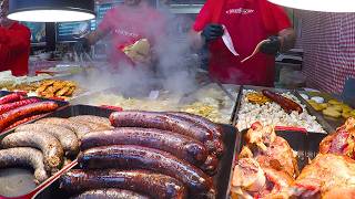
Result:
M71 199L149 199L140 193L123 189L94 189L82 192Z

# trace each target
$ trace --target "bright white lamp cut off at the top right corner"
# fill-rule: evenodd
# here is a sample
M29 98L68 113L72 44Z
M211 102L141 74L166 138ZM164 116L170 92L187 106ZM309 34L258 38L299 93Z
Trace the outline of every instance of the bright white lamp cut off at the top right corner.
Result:
M355 12L355 0L268 0L283 7L321 12Z

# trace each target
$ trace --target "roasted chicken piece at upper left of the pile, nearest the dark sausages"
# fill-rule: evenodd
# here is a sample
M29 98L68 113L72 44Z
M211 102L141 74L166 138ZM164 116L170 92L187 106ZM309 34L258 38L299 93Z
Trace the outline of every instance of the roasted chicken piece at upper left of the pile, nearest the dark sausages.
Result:
M298 175L295 153L284 138L276 136L273 127L255 123L247 130L245 140L240 158L255 158L262 167L285 171L291 177Z

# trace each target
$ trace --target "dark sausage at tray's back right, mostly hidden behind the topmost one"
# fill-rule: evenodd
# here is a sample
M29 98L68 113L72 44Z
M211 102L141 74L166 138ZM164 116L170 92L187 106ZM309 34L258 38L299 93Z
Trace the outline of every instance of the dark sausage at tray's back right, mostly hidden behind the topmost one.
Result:
M194 123L200 124L201 126L203 126L204 128L206 128L207 130L210 130L212 133L213 136L213 143L214 143L214 147L215 150L215 155L217 157L221 157L223 155L224 151L224 145L222 142L222 126L219 124L215 124L211 121L209 121L207 118L201 117L199 115L193 115L193 114L189 114L189 113L183 113L183 112L169 112L169 115L175 115L179 117L183 117L186 119L190 119Z

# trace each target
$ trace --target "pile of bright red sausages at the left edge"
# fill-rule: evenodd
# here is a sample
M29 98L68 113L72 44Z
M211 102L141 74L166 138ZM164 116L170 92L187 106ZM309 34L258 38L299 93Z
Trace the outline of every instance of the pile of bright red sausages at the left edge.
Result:
M58 108L54 102L40 102L39 98L26 98L21 93L11 93L0 97L0 132L41 117L41 114Z

